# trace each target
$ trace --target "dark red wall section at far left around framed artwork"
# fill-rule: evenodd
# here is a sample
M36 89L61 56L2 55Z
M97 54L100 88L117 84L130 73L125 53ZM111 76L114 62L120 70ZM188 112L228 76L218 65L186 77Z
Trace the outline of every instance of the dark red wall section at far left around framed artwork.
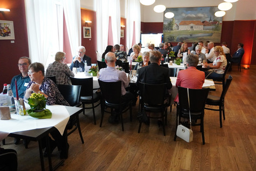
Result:
M25 4L20 0L1 0L1 8L10 9L10 12L0 12L0 20L13 21L15 43L11 40L0 40L0 92L4 83L11 83L13 76L18 75L18 59L29 57L27 41Z

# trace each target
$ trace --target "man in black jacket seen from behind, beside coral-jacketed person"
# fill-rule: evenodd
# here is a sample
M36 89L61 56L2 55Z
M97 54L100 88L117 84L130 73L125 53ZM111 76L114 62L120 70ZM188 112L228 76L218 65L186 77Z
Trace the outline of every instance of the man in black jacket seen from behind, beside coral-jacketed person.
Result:
M137 86L139 86L139 82L149 84L167 83L167 89L171 89L172 84L169 77L169 69L160 66L161 56L161 53L158 51L150 52L150 65L138 70Z

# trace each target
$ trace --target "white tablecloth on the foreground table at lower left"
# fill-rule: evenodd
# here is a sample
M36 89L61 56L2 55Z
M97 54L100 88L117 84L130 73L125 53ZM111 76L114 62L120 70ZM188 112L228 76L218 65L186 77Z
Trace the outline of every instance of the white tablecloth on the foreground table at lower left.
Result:
M70 115L62 105L47 105L46 109L52 112L51 119L38 119L29 115L20 116L11 114L10 120L0 120L0 141L11 132L41 129L45 127L56 127L62 135Z

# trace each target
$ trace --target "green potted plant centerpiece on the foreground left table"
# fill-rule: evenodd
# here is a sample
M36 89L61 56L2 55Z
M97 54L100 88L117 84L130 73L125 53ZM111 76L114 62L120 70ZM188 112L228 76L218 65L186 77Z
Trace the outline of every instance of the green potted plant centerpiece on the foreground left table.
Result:
M49 109L45 109L46 98L44 95L34 92L27 101L31 108L26 110L29 116L40 119L52 118L52 112Z

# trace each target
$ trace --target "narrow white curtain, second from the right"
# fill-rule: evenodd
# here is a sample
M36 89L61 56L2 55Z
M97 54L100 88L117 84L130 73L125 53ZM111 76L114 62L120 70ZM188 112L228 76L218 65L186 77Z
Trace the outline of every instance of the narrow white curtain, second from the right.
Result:
M110 0L109 16L111 16L112 33L114 45L120 44L121 35L121 15L120 15L120 0Z

